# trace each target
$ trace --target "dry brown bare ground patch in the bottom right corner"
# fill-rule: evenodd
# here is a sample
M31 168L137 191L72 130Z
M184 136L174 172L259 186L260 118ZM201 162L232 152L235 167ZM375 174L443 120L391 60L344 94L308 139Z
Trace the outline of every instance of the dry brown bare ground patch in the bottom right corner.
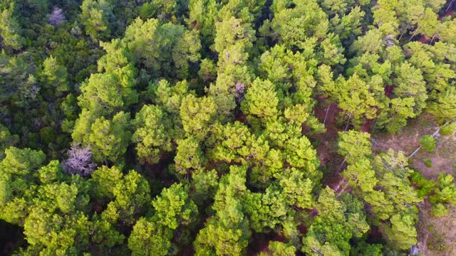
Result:
M456 207L445 217L430 215L430 203L420 203L418 224L418 248L425 256L456 255Z

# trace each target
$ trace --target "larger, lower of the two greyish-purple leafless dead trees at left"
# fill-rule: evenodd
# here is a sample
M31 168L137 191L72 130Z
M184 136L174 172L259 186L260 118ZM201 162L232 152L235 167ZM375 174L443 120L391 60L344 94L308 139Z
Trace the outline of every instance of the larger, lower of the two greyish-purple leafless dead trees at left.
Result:
M96 164L92 161L90 146L85 148L81 144L74 144L68 150L68 159L63 162L63 169L68 174L88 176L95 170Z

